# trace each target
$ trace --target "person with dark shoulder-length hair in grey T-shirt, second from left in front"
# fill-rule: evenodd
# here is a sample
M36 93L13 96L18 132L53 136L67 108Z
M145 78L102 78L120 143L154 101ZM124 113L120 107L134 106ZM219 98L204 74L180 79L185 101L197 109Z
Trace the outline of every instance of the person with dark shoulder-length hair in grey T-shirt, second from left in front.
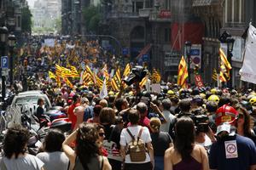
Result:
M45 136L43 150L37 157L44 162L44 170L68 169L69 160L61 151L65 136L60 130L53 129Z

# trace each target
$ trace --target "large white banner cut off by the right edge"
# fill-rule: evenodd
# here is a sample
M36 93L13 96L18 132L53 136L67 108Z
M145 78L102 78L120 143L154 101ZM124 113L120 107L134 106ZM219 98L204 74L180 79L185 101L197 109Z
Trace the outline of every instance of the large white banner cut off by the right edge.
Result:
M243 64L241 66L241 80L256 84L256 28L250 24L247 32Z

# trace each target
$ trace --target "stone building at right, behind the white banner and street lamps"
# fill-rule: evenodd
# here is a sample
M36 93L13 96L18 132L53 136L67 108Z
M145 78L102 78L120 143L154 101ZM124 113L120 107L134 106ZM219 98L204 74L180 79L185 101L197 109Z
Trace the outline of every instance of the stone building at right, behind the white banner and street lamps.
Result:
M212 82L213 69L218 70L218 48L227 50L227 46L219 42L218 37L228 31L235 39L232 51L232 84L233 87L241 87L239 70L242 65L243 50L245 40L241 35L247 29L250 21L256 24L256 2L253 0L211 0L211 1L193 1L193 13L200 17L204 24L205 31L202 42L202 60L201 74L204 82Z

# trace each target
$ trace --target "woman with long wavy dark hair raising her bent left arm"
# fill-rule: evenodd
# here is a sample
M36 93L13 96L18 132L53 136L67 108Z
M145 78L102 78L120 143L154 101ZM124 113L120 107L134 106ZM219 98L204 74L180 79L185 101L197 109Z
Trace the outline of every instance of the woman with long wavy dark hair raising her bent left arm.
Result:
M74 170L110 170L111 166L105 156L100 156L97 140L99 133L96 124L82 123L62 144L62 149L70 160L70 169ZM76 141L73 150L68 144Z

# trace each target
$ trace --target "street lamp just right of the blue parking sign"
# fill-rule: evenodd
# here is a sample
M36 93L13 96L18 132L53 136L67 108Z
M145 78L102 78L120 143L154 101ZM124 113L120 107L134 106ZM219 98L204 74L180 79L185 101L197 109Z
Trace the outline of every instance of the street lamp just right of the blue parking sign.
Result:
M14 74L13 74L13 69L14 69L14 48L15 48L15 42L16 42L16 37L15 35L9 35L8 37L9 40L9 52L10 52L10 56L9 56L9 62L10 62L10 71L9 71L9 82L10 85L13 85L14 82Z

